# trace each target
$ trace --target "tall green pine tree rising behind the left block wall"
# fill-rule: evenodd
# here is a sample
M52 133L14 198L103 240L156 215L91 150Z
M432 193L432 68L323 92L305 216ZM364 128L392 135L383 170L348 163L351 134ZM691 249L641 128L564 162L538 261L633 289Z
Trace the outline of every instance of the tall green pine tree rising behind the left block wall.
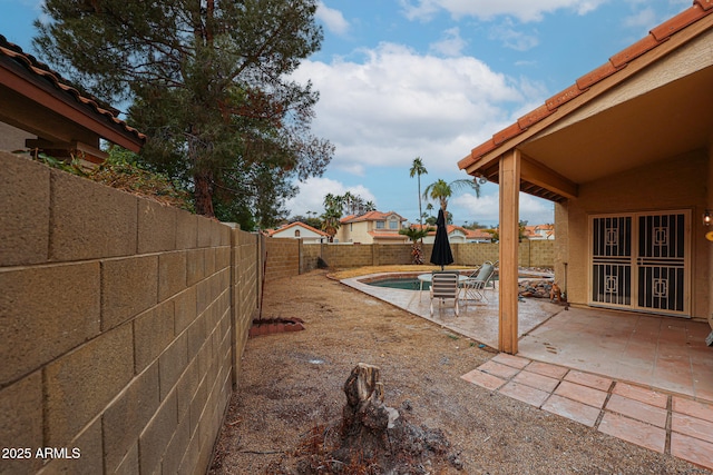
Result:
M333 146L310 133L319 93L289 79L318 51L315 0L47 0L35 47L89 93L128 100L141 156L189 184L196 211L267 224ZM238 202L231 202L237 200ZM262 205L262 209L258 209Z

